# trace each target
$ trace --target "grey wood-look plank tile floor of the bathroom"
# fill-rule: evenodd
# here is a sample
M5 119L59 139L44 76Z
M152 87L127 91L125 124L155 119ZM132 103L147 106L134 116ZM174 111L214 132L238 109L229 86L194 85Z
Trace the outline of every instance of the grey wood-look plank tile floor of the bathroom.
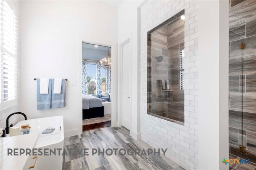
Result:
M64 149L143 149L151 148L141 140L135 140L124 127L104 127L84 131L82 135L64 139ZM89 150L90 152L90 150ZM72 152L63 157L63 170L184 170L167 156L139 155L89 155Z

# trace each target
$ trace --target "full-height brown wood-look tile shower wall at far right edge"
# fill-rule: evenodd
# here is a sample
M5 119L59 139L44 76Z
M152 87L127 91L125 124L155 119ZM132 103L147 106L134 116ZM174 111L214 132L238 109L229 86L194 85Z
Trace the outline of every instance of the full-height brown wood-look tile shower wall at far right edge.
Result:
M230 152L256 162L256 1L230 0ZM240 44L245 43L245 49ZM239 146L245 152L239 152Z

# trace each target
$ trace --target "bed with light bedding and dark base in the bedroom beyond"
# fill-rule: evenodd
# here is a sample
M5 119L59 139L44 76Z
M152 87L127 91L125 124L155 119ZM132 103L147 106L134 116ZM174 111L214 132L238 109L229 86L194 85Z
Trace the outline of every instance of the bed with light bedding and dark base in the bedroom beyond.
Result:
M83 119L90 119L104 116L102 100L94 96L83 96Z

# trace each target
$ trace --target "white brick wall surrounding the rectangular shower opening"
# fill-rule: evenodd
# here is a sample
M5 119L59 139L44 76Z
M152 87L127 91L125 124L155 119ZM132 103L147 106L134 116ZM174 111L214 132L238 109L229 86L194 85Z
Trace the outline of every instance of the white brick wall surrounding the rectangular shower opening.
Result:
M185 9L184 125L147 114L147 32ZM198 1L146 1L140 8L141 139L167 148L168 158L186 170L198 169Z

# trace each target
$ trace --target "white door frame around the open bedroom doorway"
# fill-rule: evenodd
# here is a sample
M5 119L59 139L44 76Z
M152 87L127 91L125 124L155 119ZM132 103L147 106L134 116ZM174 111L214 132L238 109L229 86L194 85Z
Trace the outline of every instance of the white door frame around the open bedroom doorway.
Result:
M82 120L82 43L90 43L96 45L103 45L107 47L111 47L111 127L116 127L117 117L119 114L117 112L117 43L111 41L104 41L100 39L94 39L90 37L79 37L78 39L78 114L79 119ZM78 125L78 130L80 134L82 134L82 121L81 124Z

